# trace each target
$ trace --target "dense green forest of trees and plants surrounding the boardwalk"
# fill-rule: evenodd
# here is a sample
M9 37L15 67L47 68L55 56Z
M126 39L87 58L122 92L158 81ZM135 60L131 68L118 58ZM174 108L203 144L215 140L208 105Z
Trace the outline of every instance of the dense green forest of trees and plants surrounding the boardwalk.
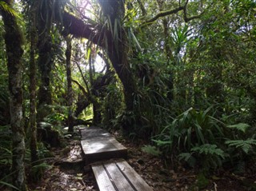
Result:
M0 189L27 190L28 166L61 145L43 132L77 125L204 176L241 173L255 161L255 17L254 0L0 0Z

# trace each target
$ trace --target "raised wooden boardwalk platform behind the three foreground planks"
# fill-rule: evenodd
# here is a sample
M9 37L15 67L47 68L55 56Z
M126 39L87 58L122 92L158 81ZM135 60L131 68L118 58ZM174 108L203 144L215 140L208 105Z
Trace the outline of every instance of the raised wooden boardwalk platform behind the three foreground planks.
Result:
M104 129L80 129L82 155L86 165L110 158L127 157L127 149Z

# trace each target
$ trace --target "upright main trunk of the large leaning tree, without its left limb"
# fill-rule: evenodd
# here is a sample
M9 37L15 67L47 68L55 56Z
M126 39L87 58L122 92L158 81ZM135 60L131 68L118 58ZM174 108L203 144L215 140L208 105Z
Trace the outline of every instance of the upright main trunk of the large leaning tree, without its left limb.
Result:
M131 72L128 62L128 40L125 30L122 28L122 18L125 15L125 4L123 0L107 0L99 1L102 6L103 14L110 17L111 26L113 31L118 32L118 38L111 36L108 39L107 47L108 55L114 70L118 74L118 78L122 82L124 98L126 103L126 111L134 111L134 95L136 94L136 83L134 75ZM120 23L115 25L115 23ZM116 27L116 28L114 28Z

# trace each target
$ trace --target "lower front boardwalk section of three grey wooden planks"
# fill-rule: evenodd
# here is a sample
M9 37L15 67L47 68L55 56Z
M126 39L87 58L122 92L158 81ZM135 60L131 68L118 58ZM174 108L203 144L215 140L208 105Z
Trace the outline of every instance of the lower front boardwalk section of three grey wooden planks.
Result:
M153 191L123 159L101 161L91 168L100 191Z

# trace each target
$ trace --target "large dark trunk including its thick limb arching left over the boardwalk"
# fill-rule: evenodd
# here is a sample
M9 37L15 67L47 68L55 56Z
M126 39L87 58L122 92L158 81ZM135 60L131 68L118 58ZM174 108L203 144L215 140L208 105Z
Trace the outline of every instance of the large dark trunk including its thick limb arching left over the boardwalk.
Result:
M112 22L111 26L118 26L116 29L112 29L113 31L117 30L118 38L116 39L114 39L110 30L102 28L100 32L95 31L90 25L86 25L82 20L65 11L60 13L59 11L61 10L55 10L55 19L58 20L58 22L62 22L65 27L64 33L73 34L74 37L78 38L87 38L106 50L112 66L122 82L126 112L136 113L136 108L134 108L134 97L137 92L137 86L128 62L127 49L129 43L127 41L125 30L120 25L114 25L114 22L117 21L121 23L122 21L125 10L124 3L122 0L107 0L100 2L102 3L102 8L105 9L105 12L103 10L104 14L109 14L110 22ZM108 12L108 10L110 10L110 12ZM59 15L62 16L60 17ZM136 119L132 123L136 123L136 121L138 120Z

